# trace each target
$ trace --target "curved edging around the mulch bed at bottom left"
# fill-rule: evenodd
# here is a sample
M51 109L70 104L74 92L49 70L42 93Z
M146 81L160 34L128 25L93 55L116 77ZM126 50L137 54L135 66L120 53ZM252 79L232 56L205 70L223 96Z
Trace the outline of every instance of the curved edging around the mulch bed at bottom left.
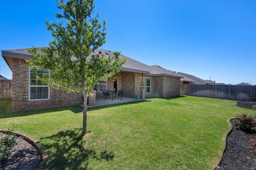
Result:
M10 132L10 131L6 131L6 130L1 130L0 129L0 133L4 133L4 134L14 134L17 137L22 137L22 139L24 139L25 141L27 141L29 144L31 144L34 148L36 148L36 150L39 152L40 158L41 158L41 163L39 164L38 168L36 170L42 170L43 169L43 163L44 163L44 159L43 159L43 155L41 150L39 149L39 147L37 146L37 144L29 139L27 136L21 135L19 133L15 133L15 132Z

